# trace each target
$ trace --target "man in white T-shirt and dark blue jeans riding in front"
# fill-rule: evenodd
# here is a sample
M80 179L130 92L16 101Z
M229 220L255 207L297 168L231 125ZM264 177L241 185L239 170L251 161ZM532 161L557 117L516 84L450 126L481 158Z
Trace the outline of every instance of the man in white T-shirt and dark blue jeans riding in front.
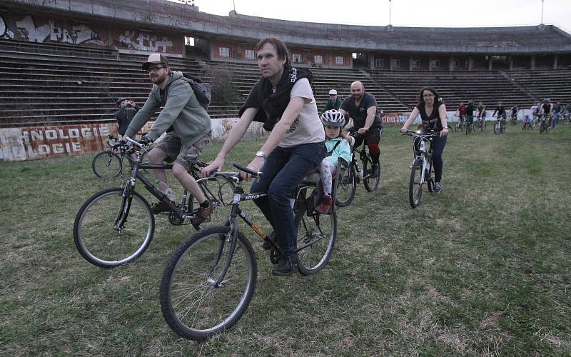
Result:
M259 181L252 183L251 192L268 192L268 196L254 203L273 227L283 253L272 273L284 276L293 273L297 263L297 229L290 196L325 156L325 132L311 89L311 72L292 67L288 48L278 39L262 39L256 45L256 52L262 78L251 89L238 113L240 120L231 129L216 159L203 169L203 176L222 169L226 155L242 139L252 121L263 122L264 129L271 131L248 168L263 172Z

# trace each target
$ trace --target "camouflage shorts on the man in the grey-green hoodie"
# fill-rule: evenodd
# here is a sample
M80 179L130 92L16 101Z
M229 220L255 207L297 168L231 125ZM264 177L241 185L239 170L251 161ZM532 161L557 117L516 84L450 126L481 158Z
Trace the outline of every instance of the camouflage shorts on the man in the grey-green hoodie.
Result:
M212 133L208 133L196 141L193 146L185 148L181 138L174 131L171 131L167 133L155 147L161 149L161 151L166 154L167 161L175 161L177 164L182 165L186 171L189 171L191 165L198 161L198 155L202 153L204 146L206 146L211 139Z

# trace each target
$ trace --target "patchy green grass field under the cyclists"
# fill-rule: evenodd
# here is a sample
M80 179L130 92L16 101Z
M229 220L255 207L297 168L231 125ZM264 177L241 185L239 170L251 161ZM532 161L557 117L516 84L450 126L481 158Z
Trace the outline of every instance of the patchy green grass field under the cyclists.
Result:
M256 294L231 330L195 343L163 321L158 285L191 226L157 217L137 261L101 269L76 251L92 154L0 164L0 354L570 355L571 126L452 134L443 193L408 206L412 139L383 132L382 181L339 213L333 257L276 277L261 241ZM227 164L261 141L243 141ZM204 160L215 156L211 145ZM258 222L261 215L246 206ZM254 214L255 213L255 214Z

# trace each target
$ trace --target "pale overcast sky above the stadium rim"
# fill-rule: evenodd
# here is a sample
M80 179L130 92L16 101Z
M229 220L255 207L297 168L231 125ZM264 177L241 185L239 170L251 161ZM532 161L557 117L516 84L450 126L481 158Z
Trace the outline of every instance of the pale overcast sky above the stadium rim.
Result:
M236 4L238 14L291 21L333 24L389 24L388 0L195 0L200 11L227 16ZM392 0L394 26L475 27L536 25L541 0ZM571 33L571 0L545 0L544 24Z

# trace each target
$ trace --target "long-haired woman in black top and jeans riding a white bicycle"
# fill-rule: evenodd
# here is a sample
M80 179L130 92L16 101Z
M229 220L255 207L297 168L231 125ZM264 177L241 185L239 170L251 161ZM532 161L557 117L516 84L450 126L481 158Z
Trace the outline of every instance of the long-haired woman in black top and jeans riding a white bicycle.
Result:
M438 131L440 136L433 139L433 162L434 162L434 193L442 192L442 169L443 160L442 153L446 145L446 136L448 135L448 120L446 118L446 106L438 96L438 92L432 87L424 87L418 96L418 105L415 106L413 112L410 113L407 121L400 128L401 133L406 133L408 126L420 114L422 119L423 132Z

